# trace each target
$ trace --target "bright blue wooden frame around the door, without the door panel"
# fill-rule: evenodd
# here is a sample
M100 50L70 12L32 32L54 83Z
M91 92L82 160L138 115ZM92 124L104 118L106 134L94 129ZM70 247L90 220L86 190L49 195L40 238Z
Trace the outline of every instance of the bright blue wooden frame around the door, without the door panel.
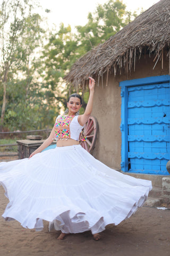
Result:
M130 86L143 86L156 83L170 84L170 75L164 76L151 76L146 78L138 78L132 80L126 80L120 82L121 86L121 133L122 133L122 146L121 146L121 170L123 172L128 172L128 87ZM169 106L170 113L170 106Z

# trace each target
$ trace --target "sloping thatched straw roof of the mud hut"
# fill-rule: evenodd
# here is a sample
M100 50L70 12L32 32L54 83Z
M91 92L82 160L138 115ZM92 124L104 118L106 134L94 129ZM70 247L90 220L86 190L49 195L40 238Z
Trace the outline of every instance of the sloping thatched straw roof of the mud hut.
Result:
M105 43L81 57L65 79L74 86L84 87L88 77L93 76L99 84L105 73L108 78L109 72L116 75L121 74L121 71L126 74L135 71L135 62L143 53L155 54L153 68L158 60L162 60L163 65L165 54L170 63L169 43L170 0L161 0Z

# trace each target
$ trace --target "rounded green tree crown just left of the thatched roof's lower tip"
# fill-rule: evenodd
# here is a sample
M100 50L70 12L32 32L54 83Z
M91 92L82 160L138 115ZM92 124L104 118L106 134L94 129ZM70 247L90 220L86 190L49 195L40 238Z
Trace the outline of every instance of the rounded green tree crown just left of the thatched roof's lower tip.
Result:
M69 70L71 65L77 59L75 51L77 41L71 32L71 27L64 27L63 23L60 29L55 33L50 33L49 43L44 47L41 57L46 67L45 81L52 86L52 90L61 82L65 71Z

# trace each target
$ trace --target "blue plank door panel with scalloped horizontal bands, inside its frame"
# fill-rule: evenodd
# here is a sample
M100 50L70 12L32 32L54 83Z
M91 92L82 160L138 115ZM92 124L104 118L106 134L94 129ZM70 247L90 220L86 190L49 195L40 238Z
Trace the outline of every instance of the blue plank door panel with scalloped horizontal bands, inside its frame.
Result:
M129 171L166 174L169 84L128 87Z

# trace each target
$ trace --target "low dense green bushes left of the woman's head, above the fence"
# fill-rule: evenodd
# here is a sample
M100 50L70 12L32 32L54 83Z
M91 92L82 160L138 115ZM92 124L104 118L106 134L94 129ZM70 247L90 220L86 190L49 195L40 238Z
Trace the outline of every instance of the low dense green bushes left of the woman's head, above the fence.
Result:
M58 111L53 102L48 102L49 92L45 92L38 83L31 82L25 98L26 85L27 79L8 84L5 124L9 130L22 131L51 127Z

